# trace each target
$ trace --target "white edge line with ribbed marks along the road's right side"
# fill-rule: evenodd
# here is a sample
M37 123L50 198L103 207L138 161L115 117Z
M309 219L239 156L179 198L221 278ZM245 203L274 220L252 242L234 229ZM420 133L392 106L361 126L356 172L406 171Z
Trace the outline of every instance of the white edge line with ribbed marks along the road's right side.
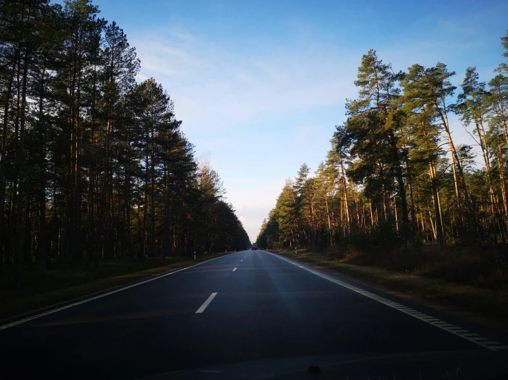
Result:
M266 252L266 251L263 251L263 252ZM376 300L377 302L381 302L382 304L384 304L386 306L392 307L393 309L401 311L402 313L406 313L406 314L408 314L408 316L412 316L412 317L417 318L423 322L432 324L432 326L436 326L441 330L448 331L449 333L457 335L465 340L469 340L470 342L472 342L474 344L478 344L478 346L487 348L490 351L508 350L508 346L501 346L501 344L499 342L496 342L495 340L490 340L487 337L482 337L476 333L472 333L471 331L462 329L459 326L455 326L454 324L445 322L443 320L439 320L438 318L429 316L426 313L421 313L420 311L417 311L415 309L411 309L410 307L401 305L401 304L399 304L399 302L394 302L392 300L388 300L387 298L384 298L382 296L377 296L377 294L367 292L366 290L360 289L359 287L349 285L348 283L344 283L343 281L333 278L332 276L327 276L327 274L320 273L320 272L313 270L311 268L307 268L307 267L301 265L300 263L296 263L294 261L286 259L285 257L281 257L278 254L273 254L272 252L267 252L267 253L272 254L272 256L278 257L279 259L287 261L290 264L296 265L298 268L307 270L307 272L316 274L316 276L320 276L321 278L324 278L325 280L331 281L332 283L336 283L337 285L340 285L342 287L346 287L347 289L350 289L353 292L362 294L362 296L372 298L373 300Z

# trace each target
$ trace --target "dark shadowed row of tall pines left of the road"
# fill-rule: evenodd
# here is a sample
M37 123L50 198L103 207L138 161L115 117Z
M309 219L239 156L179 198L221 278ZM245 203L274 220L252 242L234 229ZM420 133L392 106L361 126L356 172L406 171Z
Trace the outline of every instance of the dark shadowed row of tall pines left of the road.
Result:
M250 246L168 93L89 0L0 2L4 270Z

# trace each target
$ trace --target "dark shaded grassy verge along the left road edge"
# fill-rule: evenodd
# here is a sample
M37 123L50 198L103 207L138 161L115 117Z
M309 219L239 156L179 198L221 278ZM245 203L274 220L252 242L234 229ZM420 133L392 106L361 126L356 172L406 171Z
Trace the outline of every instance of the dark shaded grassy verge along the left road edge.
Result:
M200 255L196 260L186 256L111 259L102 261L98 268L91 263L78 270L58 268L38 272L26 269L23 271L21 289L14 288L12 273L0 274L0 322L23 313L88 298L229 253L232 252Z

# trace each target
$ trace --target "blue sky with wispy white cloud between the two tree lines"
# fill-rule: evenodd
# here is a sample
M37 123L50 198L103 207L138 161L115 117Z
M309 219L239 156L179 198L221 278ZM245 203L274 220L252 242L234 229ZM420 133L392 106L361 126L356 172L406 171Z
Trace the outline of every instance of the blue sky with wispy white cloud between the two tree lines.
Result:
M219 172L252 241L286 178L318 167L362 54L395 70L437 62L488 82L503 62L508 1L94 0L137 49ZM474 143L456 119L458 143Z

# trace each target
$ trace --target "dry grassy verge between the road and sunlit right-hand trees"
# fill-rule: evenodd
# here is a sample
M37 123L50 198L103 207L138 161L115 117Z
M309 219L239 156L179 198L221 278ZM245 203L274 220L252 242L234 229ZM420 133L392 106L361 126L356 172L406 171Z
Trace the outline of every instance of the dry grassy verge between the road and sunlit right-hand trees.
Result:
M445 281L432 278L428 273L419 274L387 270L381 265L359 265L355 258L338 256L330 251L308 249L270 250L291 259L311 265L313 268L340 274L344 278L364 283L385 292L413 298L418 302L452 313L461 318L479 322L487 326L508 331L508 289L498 286L496 289ZM460 268L459 268L460 270ZM463 270L462 272L466 272Z

